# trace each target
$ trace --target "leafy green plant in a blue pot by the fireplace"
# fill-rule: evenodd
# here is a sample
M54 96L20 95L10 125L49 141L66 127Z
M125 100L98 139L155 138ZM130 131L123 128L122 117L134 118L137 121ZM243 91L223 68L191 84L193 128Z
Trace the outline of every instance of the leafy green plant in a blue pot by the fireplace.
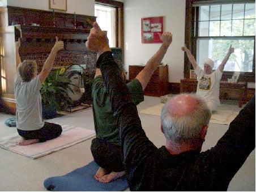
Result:
M71 89L71 80L63 73L65 70L52 70L45 82L42 83L42 117L54 118L57 116L57 110L63 110L72 104L72 100L67 95L67 90ZM73 85L74 86L74 85Z

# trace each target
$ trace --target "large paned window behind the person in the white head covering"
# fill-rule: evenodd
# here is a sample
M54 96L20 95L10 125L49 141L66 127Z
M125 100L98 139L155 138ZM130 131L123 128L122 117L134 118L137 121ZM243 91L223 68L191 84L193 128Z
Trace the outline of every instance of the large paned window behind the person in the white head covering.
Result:
M194 13L192 46L199 66L211 58L217 69L232 45L235 50L224 71L255 74L255 3L197 5Z

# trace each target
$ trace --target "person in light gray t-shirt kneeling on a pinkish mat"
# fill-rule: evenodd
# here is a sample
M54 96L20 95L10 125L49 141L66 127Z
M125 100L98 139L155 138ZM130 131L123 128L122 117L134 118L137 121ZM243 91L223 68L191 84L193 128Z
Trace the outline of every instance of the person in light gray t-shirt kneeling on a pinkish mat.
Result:
M58 37L56 37L56 43L39 75L37 75L36 61L25 60L21 62L19 56L20 39L15 42L15 46L16 67L18 68L14 84L16 123L18 133L23 137L19 145L25 146L57 138L61 135L62 127L42 120L40 89L52 70L58 51L63 49L63 41L58 41Z

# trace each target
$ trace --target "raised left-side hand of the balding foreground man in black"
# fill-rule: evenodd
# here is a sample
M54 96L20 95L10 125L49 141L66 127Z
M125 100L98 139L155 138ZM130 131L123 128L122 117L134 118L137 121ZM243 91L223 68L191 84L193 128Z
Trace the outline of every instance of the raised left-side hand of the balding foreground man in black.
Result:
M96 53L103 53L110 50L108 44L108 37L106 33L101 30L97 22L93 23L90 34L86 41L86 47Z

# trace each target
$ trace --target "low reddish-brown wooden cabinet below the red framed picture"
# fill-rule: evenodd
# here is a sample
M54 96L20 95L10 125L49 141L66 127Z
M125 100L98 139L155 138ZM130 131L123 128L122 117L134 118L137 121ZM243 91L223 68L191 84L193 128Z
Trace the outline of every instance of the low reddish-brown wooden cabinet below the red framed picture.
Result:
M133 80L144 66L130 65L129 80ZM168 65L159 66L148 82L144 95L160 97L168 94Z

